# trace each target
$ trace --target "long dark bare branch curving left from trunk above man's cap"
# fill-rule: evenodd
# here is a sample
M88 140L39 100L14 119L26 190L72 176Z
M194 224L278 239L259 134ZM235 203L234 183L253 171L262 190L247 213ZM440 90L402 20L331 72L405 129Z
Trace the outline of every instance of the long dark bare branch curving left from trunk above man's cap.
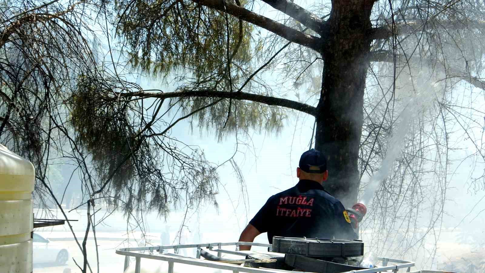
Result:
M226 98L226 99L233 99L233 100L241 100L241 101L252 101L252 102L260 102L267 105L276 105L281 107L287 107L290 109L298 110L312 116L316 115L316 108L302 102L296 102L288 99L276 98L271 96L264 96L258 94L251 94L245 92L224 92L224 91L215 91L213 89L206 89L206 90L184 90L184 91L176 91L176 92L131 92L131 93L117 93L118 96L124 98L159 98L159 99L167 99L167 98L178 98L178 97L201 97L201 98Z

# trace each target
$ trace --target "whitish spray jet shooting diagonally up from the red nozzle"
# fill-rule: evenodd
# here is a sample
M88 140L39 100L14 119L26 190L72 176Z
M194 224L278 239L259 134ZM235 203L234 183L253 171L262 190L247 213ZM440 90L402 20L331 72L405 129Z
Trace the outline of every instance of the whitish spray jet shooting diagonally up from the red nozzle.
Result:
M420 73L423 75L423 73ZM388 177L394 160L400 155L401 148L404 142L404 137L409 131L411 122L425 111L436 98L435 90L439 89L436 83L430 83L429 80L424 81L425 85L421 85L418 92L410 92L411 96L404 99L404 108L401 111L398 120L399 123L392 130L387 142L387 153L382 160L382 165L378 171L373 173L369 179L367 188L365 189L360 203L369 205L374 196L375 191L379 188L381 183Z

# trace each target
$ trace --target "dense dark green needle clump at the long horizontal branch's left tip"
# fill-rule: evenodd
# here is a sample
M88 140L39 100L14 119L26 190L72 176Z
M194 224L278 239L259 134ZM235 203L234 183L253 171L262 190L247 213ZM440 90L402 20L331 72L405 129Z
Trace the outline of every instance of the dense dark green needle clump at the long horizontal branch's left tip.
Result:
M139 149L126 113L127 102L113 103L93 85L89 78L81 76L78 89L70 100L71 122L79 144L96 162L99 179L113 176L113 185L119 190L133 178L135 166L131 154Z

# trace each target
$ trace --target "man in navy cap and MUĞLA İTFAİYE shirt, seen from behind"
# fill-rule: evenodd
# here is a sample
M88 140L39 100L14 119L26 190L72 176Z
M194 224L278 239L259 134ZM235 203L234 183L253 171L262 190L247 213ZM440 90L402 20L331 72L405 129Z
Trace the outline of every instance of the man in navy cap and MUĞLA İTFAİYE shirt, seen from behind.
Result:
M328 178L324 155L311 149L300 157L296 186L271 196L242 231L239 241L252 242L261 233L274 236L357 239L342 203L323 185ZM251 246L240 246L250 250Z

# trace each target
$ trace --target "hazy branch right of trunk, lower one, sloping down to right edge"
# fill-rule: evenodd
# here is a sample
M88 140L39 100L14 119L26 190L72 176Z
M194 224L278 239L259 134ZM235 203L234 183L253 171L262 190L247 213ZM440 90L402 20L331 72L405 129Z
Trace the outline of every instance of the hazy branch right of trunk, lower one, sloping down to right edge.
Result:
M390 52L390 51L377 51L377 52L371 52L368 60L370 62L389 62L389 63L392 63L394 61L394 56L393 56L393 53ZM418 63L422 63L424 60L419 58L419 57L411 57L411 58L408 58L406 60L404 55L398 54L396 56L396 61L398 61L398 62L406 62L407 61L409 63L418 64ZM442 63L437 62L437 61L435 61L433 63L433 67L443 69L443 71L445 70L445 66ZM474 76L471 76L469 74L467 75L466 72L459 71L459 70L454 69L454 68L447 67L446 70L448 71L448 78L451 78L451 77L459 78L460 80L464 80L464 81L468 82L469 84L471 84L471 85L473 85L477 88L485 90L485 79L474 77Z

